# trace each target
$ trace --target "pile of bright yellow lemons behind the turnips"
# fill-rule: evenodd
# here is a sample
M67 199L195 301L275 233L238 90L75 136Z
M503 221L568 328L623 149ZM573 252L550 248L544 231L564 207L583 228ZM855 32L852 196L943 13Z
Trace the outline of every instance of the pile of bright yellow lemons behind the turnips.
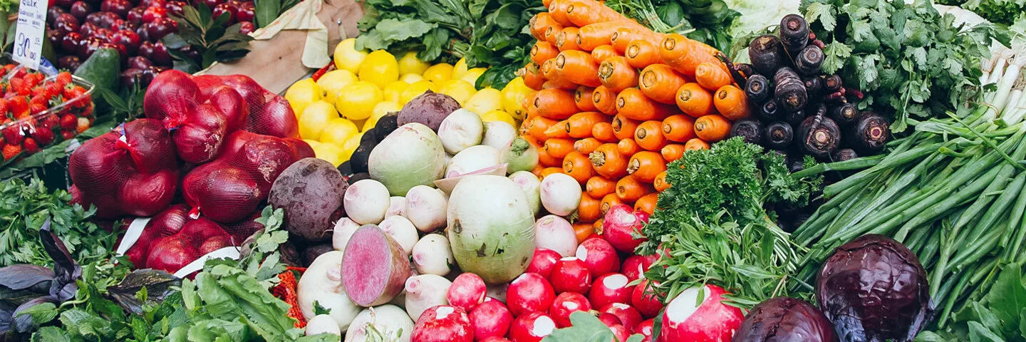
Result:
M355 49L356 39L334 48L336 70L314 81L304 79L285 91L300 121L300 137L318 158L339 165L360 145L363 132L378 119L398 112L427 90L445 93L481 116L482 121L506 121L518 127L526 115L521 103L531 91L519 77L502 90L474 87L485 68L467 68L467 62L429 65L416 51L396 58L386 50Z

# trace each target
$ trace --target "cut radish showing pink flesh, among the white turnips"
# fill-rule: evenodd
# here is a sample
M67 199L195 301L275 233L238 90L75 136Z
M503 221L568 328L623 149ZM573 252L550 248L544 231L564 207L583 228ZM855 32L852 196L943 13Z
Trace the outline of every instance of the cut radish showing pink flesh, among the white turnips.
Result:
M342 286L353 303L388 303L402 292L407 277L406 252L388 233L373 225L353 232L342 257Z

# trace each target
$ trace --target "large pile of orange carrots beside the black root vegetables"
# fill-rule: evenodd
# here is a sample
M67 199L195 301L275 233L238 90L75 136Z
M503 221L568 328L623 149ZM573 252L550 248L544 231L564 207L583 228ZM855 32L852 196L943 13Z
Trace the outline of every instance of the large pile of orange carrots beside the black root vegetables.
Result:
M584 239L609 206L649 214L669 187L666 164L727 138L749 117L744 90L715 48L654 32L596 0L543 0L530 20L538 39L520 75L521 137L539 149L541 178L584 187L575 228Z

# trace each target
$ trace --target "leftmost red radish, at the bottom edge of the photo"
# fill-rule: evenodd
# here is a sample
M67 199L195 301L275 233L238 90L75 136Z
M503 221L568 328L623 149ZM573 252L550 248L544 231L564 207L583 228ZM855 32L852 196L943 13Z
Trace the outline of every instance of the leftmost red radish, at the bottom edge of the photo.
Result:
M411 337L418 342L473 342L474 330L467 312L455 306L438 305L421 314Z

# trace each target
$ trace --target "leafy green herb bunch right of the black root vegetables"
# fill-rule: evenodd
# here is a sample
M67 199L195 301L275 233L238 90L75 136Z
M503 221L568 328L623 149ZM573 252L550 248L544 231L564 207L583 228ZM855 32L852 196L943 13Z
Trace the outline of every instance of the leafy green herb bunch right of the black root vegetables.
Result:
M859 109L893 117L894 131L975 100L991 42L1008 43L990 25L963 31L923 0L803 0L800 9L826 43L823 72L860 89Z

